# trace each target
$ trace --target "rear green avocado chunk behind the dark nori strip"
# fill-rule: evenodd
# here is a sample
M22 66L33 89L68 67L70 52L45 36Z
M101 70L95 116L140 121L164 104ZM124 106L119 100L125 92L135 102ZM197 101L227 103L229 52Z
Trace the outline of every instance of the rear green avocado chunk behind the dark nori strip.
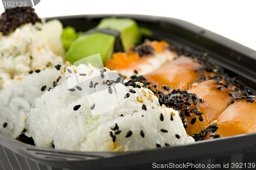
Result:
M108 28L119 31L124 51L129 50L129 48L136 44L141 37L139 26L131 18L103 18L97 28Z

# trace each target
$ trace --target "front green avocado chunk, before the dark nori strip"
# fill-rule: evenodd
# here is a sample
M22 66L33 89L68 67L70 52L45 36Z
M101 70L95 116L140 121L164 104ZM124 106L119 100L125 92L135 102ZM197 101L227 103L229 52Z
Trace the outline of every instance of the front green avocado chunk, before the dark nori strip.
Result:
M105 63L112 57L115 37L104 33L87 34L76 39L66 53L66 60L74 63L84 57L100 53Z

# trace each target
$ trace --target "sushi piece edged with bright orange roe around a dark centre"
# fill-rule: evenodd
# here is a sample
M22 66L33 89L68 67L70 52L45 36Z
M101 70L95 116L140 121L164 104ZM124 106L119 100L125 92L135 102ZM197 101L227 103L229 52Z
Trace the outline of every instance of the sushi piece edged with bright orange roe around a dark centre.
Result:
M134 46L126 53L115 53L105 66L130 78L134 71L145 75L176 57L176 53L168 50L167 42L152 41Z

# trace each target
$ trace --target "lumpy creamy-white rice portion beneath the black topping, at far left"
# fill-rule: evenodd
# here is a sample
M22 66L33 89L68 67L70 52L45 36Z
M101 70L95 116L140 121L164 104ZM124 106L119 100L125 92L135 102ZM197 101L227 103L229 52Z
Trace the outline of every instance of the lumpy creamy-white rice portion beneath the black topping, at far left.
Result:
M7 36L0 35L0 90L20 81L30 70L63 63L40 38L40 27L27 23Z

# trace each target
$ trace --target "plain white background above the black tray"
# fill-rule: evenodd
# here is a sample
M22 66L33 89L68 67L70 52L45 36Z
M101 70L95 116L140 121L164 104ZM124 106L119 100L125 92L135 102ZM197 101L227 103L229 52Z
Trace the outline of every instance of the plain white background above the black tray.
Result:
M40 17L79 14L145 14L183 19L256 50L254 0L41 0ZM0 5L0 12L4 11Z

